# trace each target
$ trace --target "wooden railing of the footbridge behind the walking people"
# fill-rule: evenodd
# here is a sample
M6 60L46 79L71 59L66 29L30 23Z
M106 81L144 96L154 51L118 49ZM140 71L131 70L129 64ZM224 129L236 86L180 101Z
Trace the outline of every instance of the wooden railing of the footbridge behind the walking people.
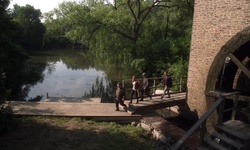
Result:
M186 77L180 77L180 78L174 78L173 79L173 86L171 87L171 92L176 93L176 92L185 92L186 91ZM143 78L137 79L140 83L142 83ZM149 90L152 96L156 96L157 93L156 91L159 89L164 89L164 85L161 83L163 80L163 77L153 77L153 78L148 78L148 83L149 83ZM122 80L122 86L125 89L126 93L130 93L132 90L132 83L131 79L124 79ZM125 96L125 99L127 97Z

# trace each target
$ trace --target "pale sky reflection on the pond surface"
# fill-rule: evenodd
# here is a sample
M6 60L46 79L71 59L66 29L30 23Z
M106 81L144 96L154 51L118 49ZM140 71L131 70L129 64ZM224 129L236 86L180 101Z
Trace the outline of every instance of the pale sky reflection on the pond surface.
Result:
M68 69L63 61L57 61L53 71L47 67L43 74L43 82L30 88L28 99L37 95L44 99L47 93L50 97L83 97L84 93L92 89L96 78L105 76L103 71L97 71L94 68ZM103 86L106 86L105 82Z

